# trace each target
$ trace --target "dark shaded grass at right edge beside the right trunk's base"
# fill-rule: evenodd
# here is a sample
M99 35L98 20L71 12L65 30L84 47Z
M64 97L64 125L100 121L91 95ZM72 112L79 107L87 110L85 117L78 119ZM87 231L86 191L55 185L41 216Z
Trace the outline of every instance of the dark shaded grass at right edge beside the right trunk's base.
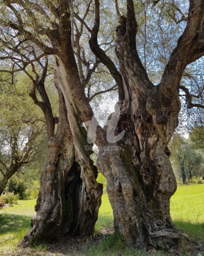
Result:
M175 226L196 240L204 242L204 223L174 221Z

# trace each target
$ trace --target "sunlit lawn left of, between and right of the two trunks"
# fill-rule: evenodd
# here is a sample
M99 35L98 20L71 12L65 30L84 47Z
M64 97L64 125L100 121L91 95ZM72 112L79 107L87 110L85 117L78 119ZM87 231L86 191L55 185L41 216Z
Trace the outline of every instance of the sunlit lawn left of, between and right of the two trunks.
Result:
M35 202L20 200L18 205L0 210L0 255L14 251L27 233L30 220L35 215ZM177 228L204 241L204 183L178 187L171 199L171 216ZM113 227L113 212L107 193L102 197L96 232L103 227Z

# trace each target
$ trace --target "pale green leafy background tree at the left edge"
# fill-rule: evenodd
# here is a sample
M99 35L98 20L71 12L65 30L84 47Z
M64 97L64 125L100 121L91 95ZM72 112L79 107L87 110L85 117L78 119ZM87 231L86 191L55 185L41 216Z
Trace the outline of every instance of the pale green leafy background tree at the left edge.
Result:
M16 78L16 85L9 84L2 76L0 93L0 194L7 182L22 167L29 165L40 151L44 134L44 118L28 97L28 88L22 86L23 76Z

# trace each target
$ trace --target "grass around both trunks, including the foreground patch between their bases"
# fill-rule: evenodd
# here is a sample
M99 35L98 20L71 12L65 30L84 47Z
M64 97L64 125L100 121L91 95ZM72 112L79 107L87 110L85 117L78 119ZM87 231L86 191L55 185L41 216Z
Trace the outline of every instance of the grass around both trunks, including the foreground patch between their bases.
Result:
M10 252L14 251L17 243L29 230L30 220L35 215L35 202L36 200L20 200L18 205L0 210L0 255L9 255ZM171 216L177 228L197 240L204 241L204 183L178 187L171 198ZM113 212L107 193L102 196L96 233L104 227L113 227ZM108 235L97 246L94 245L91 249L86 248L82 254L78 255L137 256L145 254L126 247L120 237ZM167 254L152 252L149 255Z

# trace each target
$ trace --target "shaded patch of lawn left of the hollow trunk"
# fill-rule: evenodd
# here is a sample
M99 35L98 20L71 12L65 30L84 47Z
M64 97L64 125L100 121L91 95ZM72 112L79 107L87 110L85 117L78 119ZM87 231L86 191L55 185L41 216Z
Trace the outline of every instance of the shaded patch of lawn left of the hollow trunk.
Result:
M0 215L0 235L9 232L21 232L29 229L33 216L11 215L2 213Z

